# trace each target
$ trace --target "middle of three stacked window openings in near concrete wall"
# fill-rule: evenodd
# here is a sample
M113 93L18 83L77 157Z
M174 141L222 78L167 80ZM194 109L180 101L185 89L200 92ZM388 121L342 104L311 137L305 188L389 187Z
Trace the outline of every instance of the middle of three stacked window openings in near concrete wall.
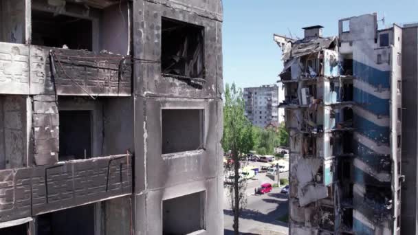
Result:
M203 109L162 109L162 154L204 148L203 113Z

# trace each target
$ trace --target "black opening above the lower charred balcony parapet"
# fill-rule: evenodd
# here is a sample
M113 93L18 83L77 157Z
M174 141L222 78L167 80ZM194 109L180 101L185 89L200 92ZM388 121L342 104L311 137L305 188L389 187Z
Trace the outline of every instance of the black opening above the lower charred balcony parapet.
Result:
M59 111L60 161L87 159L91 153L91 111Z

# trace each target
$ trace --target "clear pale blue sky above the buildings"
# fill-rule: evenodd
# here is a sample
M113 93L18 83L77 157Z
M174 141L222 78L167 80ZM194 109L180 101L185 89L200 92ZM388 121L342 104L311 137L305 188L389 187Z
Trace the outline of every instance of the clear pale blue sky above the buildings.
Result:
M283 66L274 33L303 38L302 27L322 25L332 36L339 19L377 12L388 26L418 21L417 10L418 0L223 0L223 80L238 87L276 82Z

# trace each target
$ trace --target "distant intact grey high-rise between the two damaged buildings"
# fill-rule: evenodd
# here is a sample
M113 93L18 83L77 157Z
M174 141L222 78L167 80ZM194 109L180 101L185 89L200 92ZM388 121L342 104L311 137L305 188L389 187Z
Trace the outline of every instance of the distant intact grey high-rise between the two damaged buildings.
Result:
M244 88L245 116L252 124L265 127L271 122L283 121L278 111L279 90L277 85Z

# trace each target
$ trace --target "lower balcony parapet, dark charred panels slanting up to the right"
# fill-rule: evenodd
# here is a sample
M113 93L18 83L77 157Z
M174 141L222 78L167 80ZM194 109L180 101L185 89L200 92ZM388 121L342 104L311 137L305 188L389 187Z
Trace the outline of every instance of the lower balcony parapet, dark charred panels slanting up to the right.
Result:
M0 170L0 222L131 192L131 154Z

